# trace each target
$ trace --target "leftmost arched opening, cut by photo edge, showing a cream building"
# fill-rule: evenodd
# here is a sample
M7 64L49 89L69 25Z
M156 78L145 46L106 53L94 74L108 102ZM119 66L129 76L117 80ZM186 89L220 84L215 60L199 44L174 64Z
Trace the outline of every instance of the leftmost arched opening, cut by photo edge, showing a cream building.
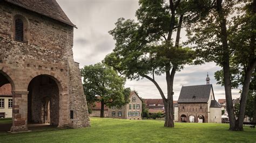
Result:
M0 132L10 131L12 126L12 87L11 78L0 70Z

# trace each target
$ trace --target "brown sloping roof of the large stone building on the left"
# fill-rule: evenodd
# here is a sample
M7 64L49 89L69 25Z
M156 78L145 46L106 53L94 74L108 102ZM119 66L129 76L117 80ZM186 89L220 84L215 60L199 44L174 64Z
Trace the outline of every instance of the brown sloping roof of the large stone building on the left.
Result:
M65 15L56 0L4 0L8 3L20 6L21 8L50 17L59 22L76 27Z

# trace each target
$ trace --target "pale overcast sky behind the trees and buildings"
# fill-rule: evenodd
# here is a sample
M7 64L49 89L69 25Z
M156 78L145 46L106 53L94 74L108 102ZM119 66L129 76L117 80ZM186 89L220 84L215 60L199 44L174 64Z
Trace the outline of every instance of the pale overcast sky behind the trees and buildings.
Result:
M108 31L114 28L117 19L136 19L138 0L57 0L66 15L78 29L74 30L73 53L80 68L101 62L105 55L112 52L114 40ZM181 33L181 40L186 40L185 31ZM201 66L185 66L174 77L174 100L178 100L181 87L184 85L206 84L207 72L213 84L215 99L225 98L224 88L216 84L214 72L220 67L215 63ZM156 78L166 95L165 76ZM161 98L154 84L146 79L140 81L127 80L126 87L138 91L143 98ZM233 98L239 97L238 89L232 90Z

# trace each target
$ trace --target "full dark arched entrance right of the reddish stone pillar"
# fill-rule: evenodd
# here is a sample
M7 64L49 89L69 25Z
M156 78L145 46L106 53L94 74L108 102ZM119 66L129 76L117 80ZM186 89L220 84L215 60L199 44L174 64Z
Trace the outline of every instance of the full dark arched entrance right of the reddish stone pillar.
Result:
M59 88L49 75L34 77L28 87L28 123L59 124Z

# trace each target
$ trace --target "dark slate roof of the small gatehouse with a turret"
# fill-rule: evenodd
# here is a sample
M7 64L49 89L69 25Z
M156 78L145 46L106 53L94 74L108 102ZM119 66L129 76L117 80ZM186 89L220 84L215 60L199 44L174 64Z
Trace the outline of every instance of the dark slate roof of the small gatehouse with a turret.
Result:
M207 103L212 84L184 86L181 88L178 103Z

